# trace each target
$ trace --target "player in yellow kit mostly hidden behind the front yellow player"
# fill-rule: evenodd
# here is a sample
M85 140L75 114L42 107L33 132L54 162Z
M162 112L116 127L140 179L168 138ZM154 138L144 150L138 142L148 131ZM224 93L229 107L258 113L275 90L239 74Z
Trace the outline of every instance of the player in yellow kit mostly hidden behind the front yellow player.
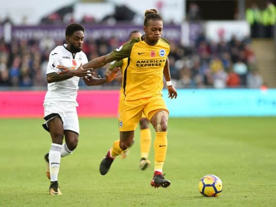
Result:
M133 38L139 38L141 35L142 35L141 32L137 30L131 31L129 34L129 40L132 40ZM124 58L123 60L113 61L112 63L110 63L108 66L107 73L108 74L111 73L111 71L115 67L120 67L121 72L123 74L123 71L127 66L127 59L128 58ZM116 78L116 80L118 81L122 81L122 79L123 79L122 76L118 76ZM120 89L119 108L123 99L124 99L124 95L123 95L123 84L122 84L122 87ZM150 160L148 159L148 156L151 148L152 134L151 134L151 129L149 127L149 124L150 124L149 120L147 119L144 113L142 114L139 124L140 124L140 164L139 166L141 170L145 170L151 164ZM124 151L121 154L123 159L128 155L128 152L129 152L129 149L127 151Z

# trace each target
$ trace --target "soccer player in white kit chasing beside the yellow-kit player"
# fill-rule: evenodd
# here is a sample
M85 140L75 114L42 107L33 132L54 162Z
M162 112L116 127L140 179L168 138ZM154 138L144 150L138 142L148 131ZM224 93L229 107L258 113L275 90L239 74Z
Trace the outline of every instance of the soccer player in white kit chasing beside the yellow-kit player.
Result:
M44 99L45 123L43 127L50 132L52 143L49 153L45 155L47 164L46 175L50 179L49 193L61 195L58 184L58 174L61 157L70 155L77 147L79 124L77 117L77 90L79 78L83 78L86 85L99 85L109 82L116 77L117 68L106 78L94 78L92 68L77 69L81 64L88 62L81 51L84 39L84 27L72 23L66 27L66 43L54 48L49 55L46 70L48 82L47 93ZM69 71L59 74L59 68L65 66ZM62 144L63 137L65 143Z

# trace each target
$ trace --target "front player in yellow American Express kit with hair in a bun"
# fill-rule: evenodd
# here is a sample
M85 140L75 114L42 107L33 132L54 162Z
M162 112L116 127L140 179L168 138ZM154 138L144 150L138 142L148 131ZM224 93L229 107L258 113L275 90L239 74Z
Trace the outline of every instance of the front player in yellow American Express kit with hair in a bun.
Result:
M106 175L116 156L131 146L134 130L144 113L155 129L154 173L151 185L154 188L167 188L170 181L164 178L162 169L168 146L169 110L162 98L163 74L169 97L176 98L177 92L172 86L169 74L169 42L161 37L163 21L156 9L146 10L143 31L145 34L141 37L132 39L111 53L95 58L79 68L98 68L114 60L128 58L123 72L124 99L119 109L120 140L113 143L100 163L101 175Z

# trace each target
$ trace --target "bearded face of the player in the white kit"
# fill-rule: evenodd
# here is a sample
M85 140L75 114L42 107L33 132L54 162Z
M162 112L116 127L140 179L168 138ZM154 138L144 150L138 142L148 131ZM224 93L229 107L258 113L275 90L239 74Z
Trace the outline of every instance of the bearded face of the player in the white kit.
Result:
M76 31L71 36L68 36L67 44L71 52L80 52L83 45L84 32Z

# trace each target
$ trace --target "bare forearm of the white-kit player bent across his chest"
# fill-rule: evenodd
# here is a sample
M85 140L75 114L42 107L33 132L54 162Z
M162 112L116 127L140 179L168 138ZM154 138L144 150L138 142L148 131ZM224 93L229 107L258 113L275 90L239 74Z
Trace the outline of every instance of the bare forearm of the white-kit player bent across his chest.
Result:
M90 70L92 68L87 68L87 69L83 69L80 67L78 67L76 70L70 70L67 67L64 67L62 65L58 65L57 68L62 69L62 73L49 73L47 74L47 82L51 83L51 82L57 82L57 81L61 81L61 80L67 80L72 78L73 76L77 76L80 78L85 78L87 76L89 76L90 74L94 74L93 72L91 72Z

